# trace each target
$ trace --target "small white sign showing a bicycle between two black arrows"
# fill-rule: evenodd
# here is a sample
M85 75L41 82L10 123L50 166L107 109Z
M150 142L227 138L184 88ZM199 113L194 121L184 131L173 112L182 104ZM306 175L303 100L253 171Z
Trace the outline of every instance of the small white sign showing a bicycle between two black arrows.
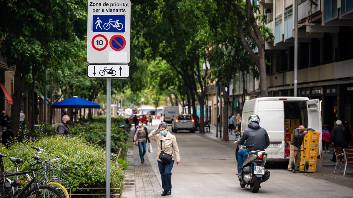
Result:
M129 78L128 64L89 64L87 66L89 78Z

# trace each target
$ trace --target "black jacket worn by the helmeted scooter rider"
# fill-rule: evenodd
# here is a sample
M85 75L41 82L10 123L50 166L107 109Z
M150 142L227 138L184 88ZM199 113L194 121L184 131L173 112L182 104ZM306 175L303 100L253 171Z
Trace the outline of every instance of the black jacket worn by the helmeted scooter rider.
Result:
M246 141L245 146L248 153L255 150L265 150L270 145L267 131L256 122L251 122L248 126L249 128L244 131L237 144L244 145Z

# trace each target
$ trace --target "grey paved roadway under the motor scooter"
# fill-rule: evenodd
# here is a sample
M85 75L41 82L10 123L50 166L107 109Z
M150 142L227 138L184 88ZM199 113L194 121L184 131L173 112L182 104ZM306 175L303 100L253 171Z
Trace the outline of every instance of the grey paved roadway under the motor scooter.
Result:
M154 127L148 127L149 132L156 127L156 122ZM352 188L309 175L324 173L293 174L283 165L268 166L270 179L262 183L258 193L251 193L250 187L240 187L235 175L235 146L232 149L229 142L210 140L203 134L178 132L173 135L177 136L181 162L173 167L172 197L353 197ZM151 144L156 150L156 142L151 141ZM156 152L146 155L161 182ZM346 180L342 175L337 177L342 182Z

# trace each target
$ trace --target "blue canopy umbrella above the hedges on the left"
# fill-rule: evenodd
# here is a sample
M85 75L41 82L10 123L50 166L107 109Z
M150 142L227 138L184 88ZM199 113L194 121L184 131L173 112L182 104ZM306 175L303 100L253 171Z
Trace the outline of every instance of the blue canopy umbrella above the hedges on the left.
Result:
M100 106L97 103L79 98L72 97L66 100L62 100L60 102L52 104L50 107L52 109L99 109Z

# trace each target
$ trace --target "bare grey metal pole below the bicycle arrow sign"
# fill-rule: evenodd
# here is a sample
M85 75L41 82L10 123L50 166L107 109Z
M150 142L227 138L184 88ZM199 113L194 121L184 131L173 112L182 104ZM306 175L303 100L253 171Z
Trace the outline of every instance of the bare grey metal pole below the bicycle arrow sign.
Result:
M110 198L110 101L112 79L107 78L107 155L106 155L106 198ZM116 159L118 160L118 159Z

